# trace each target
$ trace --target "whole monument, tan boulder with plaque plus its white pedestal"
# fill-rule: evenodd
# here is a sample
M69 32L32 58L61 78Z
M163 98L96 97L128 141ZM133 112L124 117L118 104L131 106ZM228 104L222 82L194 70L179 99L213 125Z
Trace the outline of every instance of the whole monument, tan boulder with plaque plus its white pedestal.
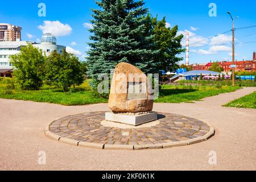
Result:
M158 119L152 112L154 93L151 81L137 67L128 63L119 63L115 67L109 95L109 107L106 121L142 125Z

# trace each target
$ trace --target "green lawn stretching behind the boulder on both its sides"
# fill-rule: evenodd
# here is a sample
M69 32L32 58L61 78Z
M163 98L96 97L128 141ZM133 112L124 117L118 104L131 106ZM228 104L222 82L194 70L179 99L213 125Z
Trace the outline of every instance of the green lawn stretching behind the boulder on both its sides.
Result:
M88 105L107 103L108 99L98 96L94 93L85 81L76 89L71 89L69 92L63 92L61 89L56 89L51 86L43 86L40 90L11 90L11 93L6 92L7 84L0 84L0 98L25 100L35 102L48 102L60 105ZM163 85L163 90L160 93L158 100L155 102L180 103L193 102L201 100L205 97L216 96L220 93L233 92L240 87L222 86L171 86Z

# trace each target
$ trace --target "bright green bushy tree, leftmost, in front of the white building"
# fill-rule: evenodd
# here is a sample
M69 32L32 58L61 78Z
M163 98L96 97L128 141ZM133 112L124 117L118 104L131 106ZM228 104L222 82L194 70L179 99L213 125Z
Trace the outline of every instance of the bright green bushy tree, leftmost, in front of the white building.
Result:
M32 44L22 47L19 54L10 57L10 63L16 68L14 76L20 88L38 90L43 85L45 62L46 56Z

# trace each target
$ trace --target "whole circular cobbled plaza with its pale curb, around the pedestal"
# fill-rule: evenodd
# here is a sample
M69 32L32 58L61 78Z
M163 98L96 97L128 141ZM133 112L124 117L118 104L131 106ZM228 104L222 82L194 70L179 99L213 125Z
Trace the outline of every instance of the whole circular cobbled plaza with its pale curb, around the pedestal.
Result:
M92 112L57 119L46 135L60 142L101 149L138 150L185 146L208 140L213 127L194 118L158 113L155 125L110 127L102 125L105 112Z

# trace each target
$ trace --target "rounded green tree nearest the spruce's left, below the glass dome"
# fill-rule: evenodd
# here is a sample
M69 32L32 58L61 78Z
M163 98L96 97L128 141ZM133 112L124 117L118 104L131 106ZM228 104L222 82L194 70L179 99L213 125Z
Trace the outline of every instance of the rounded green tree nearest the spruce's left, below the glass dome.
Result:
M81 85L84 81L86 67L76 56L67 53L52 52L47 59L46 80L49 85L63 88L65 92L75 84Z

